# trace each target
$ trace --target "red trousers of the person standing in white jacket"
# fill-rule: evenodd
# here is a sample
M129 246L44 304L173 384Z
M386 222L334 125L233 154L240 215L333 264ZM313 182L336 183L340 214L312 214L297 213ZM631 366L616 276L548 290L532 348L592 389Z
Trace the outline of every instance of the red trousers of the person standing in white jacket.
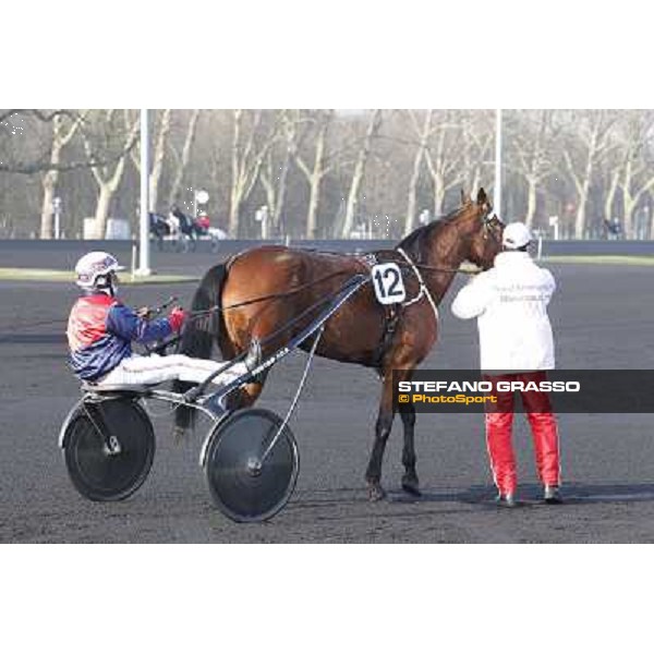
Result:
M510 375L484 375L487 382L542 382L547 378L544 371ZM545 392L519 391L524 412L531 425L536 453L536 469L543 484L558 486L560 464L556 417L552 412L549 397ZM516 491L516 458L511 444L513 426L513 398L511 391L494 390L497 409L486 413L486 445L491 458L493 479L498 491L506 495Z

